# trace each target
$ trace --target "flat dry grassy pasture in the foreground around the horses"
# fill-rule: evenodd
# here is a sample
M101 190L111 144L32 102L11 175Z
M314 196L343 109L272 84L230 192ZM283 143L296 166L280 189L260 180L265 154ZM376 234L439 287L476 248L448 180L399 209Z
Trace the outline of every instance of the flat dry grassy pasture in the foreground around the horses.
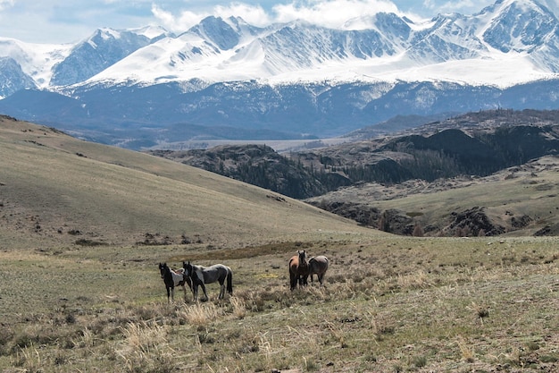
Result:
M0 253L4 372L556 371L559 255L549 238L324 235L215 250ZM298 249L331 260L289 291ZM195 255L196 251L196 255ZM259 254L261 253L261 255ZM221 257L221 259L219 259ZM233 296L167 304L157 263L233 270Z

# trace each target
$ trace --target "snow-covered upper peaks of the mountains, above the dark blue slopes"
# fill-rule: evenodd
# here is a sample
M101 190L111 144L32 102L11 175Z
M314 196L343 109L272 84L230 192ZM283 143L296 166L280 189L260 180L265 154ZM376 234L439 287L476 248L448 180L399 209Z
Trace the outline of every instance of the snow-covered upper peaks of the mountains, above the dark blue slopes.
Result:
M558 30L555 14L535 0L497 0L472 15L411 21L379 12L336 29L305 21L261 28L238 17L209 16L178 36L157 26L99 29L71 48L0 38L0 56L13 58L43 88L311 79L508 86L559 73Z

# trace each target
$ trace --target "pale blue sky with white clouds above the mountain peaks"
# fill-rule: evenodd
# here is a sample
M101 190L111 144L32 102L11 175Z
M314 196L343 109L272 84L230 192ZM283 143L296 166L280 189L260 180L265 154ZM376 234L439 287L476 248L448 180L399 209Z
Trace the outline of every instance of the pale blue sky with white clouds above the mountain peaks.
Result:
M66 44L88 38L96 29L163 26L188 30L208 15L236 15L255 26L303 19L338 27L379 11L428 19L438 13L478 13L496 0L0 0L0 37L27 43ZM559 0L540 0L559 8Z

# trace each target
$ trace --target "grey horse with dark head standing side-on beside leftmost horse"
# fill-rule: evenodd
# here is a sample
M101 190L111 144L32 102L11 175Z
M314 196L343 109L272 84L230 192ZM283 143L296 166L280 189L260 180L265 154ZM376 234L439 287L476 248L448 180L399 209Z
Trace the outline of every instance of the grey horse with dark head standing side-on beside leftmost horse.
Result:
M205 301L208 300L208 294L205 292L205 284L219 282L221 285L220 296L223 299L225 295L225 280L227 279L227 292L233 294L233 272L231 268L222 264L214 264L210 267L195 266L190 262L182 262L185 276L189 276L192 280L192 295L194 301L198 301L198 285L202 286Z

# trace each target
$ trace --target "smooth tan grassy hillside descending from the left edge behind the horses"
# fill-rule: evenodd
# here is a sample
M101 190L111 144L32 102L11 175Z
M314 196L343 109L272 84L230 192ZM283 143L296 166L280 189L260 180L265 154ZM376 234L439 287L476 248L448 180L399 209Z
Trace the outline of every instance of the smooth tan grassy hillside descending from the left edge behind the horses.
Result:
M0 248L248 245L332 230L365 232L271 191L5 116L0 159Z

